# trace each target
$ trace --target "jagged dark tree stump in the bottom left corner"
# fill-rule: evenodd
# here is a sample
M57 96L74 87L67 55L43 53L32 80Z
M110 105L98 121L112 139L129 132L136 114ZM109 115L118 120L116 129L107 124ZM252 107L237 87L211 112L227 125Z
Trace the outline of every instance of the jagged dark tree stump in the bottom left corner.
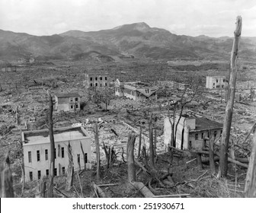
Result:
M5 157L5 161L0 165L0 197L14 198L13 181L8 155Z

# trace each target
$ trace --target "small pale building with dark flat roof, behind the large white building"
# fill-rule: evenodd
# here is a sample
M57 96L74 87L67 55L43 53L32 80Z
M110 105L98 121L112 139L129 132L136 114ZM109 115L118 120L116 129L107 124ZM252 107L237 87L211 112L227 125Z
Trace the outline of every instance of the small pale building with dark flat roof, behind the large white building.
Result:
M78 93L62 93L55 95L55 110L75 112L80 110L81 96Z

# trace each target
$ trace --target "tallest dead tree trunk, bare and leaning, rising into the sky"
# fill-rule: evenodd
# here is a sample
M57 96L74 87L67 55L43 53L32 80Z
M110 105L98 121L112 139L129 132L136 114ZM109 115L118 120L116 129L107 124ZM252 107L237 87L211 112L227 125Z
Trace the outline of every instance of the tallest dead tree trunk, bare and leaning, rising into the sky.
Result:
M229 151L229 135L232 123L233 105L235 100L235 81L237 75L236 61L238 57L238 46L242 31L242 17L236 18L236 27L234 32L234 42L230 59L229 72L229 88L228 97L226 101L226 112L223 122L222 140L220 142L220 156L219 156L219 173L220 176L226 176L228 172L228 151Z

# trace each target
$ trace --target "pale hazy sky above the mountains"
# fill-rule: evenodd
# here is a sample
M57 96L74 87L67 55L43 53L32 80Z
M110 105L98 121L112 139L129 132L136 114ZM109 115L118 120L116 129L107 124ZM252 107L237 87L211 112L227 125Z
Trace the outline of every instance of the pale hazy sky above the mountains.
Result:
M171 33L256 37L255 0L0 0L0 29L33 35L94 31L146 22Z

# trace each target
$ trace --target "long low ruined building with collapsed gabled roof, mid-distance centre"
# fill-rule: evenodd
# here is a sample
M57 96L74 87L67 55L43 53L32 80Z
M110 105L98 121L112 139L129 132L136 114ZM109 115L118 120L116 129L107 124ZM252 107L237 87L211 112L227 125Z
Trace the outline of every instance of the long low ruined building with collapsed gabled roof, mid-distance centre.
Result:
M158 87L141 81L122 82L115 81L115 95L119 97L129 97L133 100L157 99L156 91Z

